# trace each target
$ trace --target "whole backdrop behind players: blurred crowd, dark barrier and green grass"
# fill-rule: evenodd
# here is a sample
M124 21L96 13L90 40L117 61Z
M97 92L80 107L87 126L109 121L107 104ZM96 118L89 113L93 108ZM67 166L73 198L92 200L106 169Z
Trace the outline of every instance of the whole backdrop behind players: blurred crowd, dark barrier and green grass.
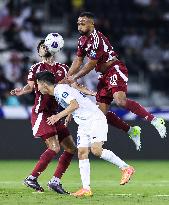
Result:
M65 46L57 60L71 64L77 46L77 17L84 10L95 13L97 28L110 38L126 63L129 97L163 116L169 129L169 0L0 0L0 204L168 205L168 139L160 139L149 123L114 104L111 109L120 117L142 127L140 152L125 133L109 129L105 147L123 159L134 159L128 163L136 173L127 186L119 186L119 169L101 160L91 162L92 198L60 196L47 190L57 160L39 178L44 194L32 193L22 185L44 145L32 136L33 94L16 98L9 91L25 85L29 67L39 61L37 42L47 33L63 35ZM82 83L95 90L96 73ZM70 129L75 136L74 123ZM81 186L78 160L71 163L62 183L70 192Z

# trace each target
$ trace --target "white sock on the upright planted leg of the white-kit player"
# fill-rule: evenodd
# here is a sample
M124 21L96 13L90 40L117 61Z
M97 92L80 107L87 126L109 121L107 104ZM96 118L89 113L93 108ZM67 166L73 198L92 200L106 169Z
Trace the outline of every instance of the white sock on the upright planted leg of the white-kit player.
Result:
M90 162L89 159L79 160L80 176L84 189L90 190Z

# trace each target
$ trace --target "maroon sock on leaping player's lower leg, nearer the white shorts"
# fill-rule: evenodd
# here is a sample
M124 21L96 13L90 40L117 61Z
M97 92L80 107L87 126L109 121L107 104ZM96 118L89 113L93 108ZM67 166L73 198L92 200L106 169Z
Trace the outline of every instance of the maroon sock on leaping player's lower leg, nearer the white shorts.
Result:
M124 122L122 119L120 119L115 113L113 112L108 112L106 114L106 118L107 118L107 123L117 127L119 129L122 129L124 132L128 132L130 129L130 126Z

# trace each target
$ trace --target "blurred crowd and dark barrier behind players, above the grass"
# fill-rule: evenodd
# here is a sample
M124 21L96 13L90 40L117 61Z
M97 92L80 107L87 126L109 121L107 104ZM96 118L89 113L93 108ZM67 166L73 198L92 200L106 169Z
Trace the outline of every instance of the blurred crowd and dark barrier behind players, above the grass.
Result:
M34 95L17 98L9 91L25 85L28 69L39 60L37 42L47 33L63 35L65 46L56 59L71 65L77 17L84 10L95 13L96 27L126 63L128 96L169 119L168 0L4 0L0 1L0 159L32 159L41 153L43 146L33 140L29 121ZM82 83L95 90L97 74L91 72ZM110 128L107 147L123 158L169 158L169 143L150 124L113 104L111 109L130 124L141 125L143 149L136 152L128 137L115 128ZM75 136L75 125L70 128Z

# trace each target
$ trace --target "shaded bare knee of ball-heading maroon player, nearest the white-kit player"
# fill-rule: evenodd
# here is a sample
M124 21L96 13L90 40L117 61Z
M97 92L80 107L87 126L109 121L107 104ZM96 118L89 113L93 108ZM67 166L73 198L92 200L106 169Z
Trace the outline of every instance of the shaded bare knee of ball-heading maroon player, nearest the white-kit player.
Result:
M69 153L74 154L76 152L76 145L73 140L73 137L71 135L65 137L60 145L63 147L63 149Z

